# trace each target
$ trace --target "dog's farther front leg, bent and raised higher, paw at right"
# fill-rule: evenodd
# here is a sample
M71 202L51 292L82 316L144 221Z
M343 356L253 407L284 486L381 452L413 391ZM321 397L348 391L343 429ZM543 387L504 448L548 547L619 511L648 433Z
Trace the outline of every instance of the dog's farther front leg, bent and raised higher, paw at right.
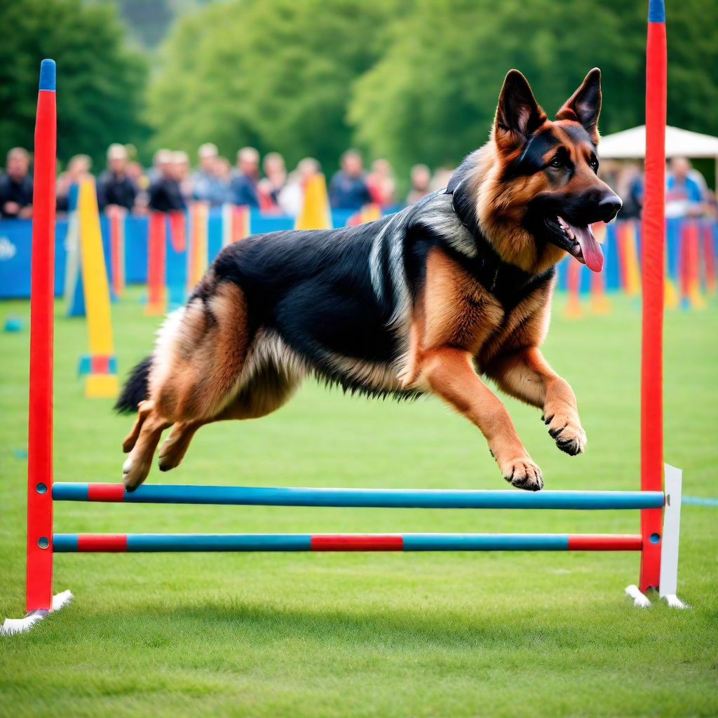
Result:
M571 456L584 452L586 433L574 391L551 369L538 347L500 356L485 371L502 391L544 410L544 422L561 451Z

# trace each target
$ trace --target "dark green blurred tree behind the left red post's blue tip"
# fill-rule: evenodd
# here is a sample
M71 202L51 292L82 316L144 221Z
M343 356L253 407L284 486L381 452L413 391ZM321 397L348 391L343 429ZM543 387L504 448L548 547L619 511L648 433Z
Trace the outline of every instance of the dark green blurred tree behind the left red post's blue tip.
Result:
M57 62L57 154L104 167L111 142L141 144L144 58L123 47L114 6L81 0L0 0L0 160L32 149L40 61Z

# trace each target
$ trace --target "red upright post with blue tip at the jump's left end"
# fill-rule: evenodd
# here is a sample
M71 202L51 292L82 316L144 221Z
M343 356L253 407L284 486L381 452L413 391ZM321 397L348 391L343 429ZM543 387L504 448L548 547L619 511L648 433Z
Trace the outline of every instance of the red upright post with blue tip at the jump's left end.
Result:
M27 450L27 611L52 608L52 325L55 289L55 62L40 65L35 118Z

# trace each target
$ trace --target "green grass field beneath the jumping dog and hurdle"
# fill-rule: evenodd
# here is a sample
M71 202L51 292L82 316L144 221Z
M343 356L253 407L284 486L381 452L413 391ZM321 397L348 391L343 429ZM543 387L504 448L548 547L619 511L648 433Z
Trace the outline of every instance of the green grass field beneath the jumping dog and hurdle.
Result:
M156 320L113 306L121 373ZM638 488L640 314L561 318L546 356L576 391L587 454L556 449L507 400L547 488ZM127 417L83 398L82 320L57 306L55 479L117 481ZM27 302L0 304L29 316ZM718 310L666 316L666 461L717 496ZM27 322L0 334L0 617L24 607ZM261 421L205 427L171 475L248 485L505 488L484 439L435 400L392 404L307 383ZM0 639L3 717L716 716L718 508L684 505L679 595L623 595L637 554L60 554L75 600ZM55 530L117 532L638 531L637 512L61 503Z

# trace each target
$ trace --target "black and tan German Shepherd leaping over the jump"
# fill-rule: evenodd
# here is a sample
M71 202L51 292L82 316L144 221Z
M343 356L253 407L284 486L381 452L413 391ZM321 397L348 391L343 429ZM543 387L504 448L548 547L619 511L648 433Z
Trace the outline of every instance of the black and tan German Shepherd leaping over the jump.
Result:
M597 177L600 70L554 121L521 73L503 83L487 144L446 190L375 222L254 235L225 247L134 368L118 411L126 490L182 461L197 429L279 409L312 374L369 396L434 393L486 437L505 480L536 491L541 470L482 381L538 406L561 451L586 434L574 392L538 349L556 263L600 271L590 225L620 199Z

